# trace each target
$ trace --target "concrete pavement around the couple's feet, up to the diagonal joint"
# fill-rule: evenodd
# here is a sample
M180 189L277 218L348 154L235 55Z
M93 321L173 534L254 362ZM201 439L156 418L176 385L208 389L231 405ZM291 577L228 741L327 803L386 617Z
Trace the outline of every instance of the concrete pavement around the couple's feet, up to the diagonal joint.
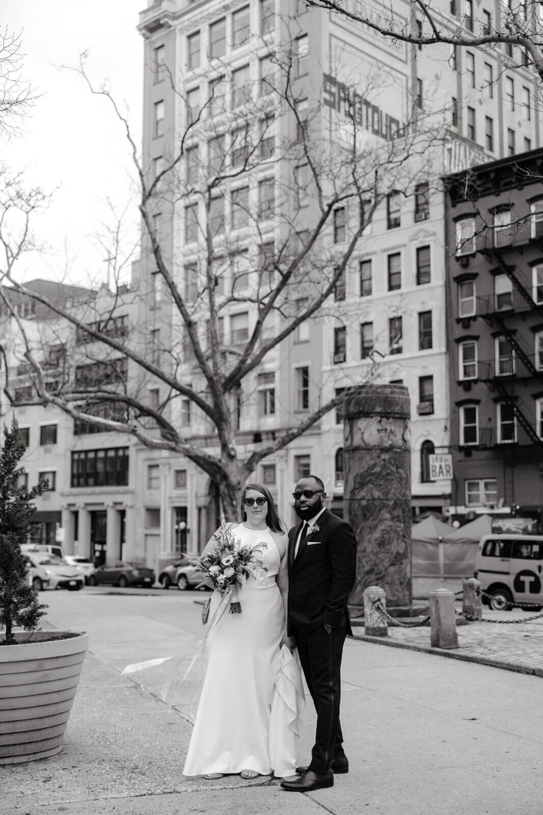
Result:
M475 637L483 625L459 632ZM429 629L419 631L429 641ZM413 631L402 636L406 645ZM342 678L351 772L332 789L207 782L181 775L191 734L182 713L121 676L91 642L63 751L0 769L0 815L541 815L539 677L350 639ZM308 705L302 757L313 731Z

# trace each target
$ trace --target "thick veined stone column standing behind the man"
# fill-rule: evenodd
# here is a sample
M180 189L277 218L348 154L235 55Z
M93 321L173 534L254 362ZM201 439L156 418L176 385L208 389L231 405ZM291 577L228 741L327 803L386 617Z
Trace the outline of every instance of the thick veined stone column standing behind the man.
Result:
M410 403L404 385L357 385L344 398L343 502L358 540L350 606L379 586L411 606Z

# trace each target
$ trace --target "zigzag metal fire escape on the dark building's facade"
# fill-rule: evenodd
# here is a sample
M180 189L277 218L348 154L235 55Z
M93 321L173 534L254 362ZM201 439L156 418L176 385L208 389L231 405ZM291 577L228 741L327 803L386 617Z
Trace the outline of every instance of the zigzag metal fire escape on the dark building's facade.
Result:
M485 322L495 330L496 337L504 337L509 343L511 353L503 360L495 359L487 363L486 371L479 377L490 390L500 397L501 403L510 405L516 421L526 434L528 444L543 447L543 439L536 432L535 422L528 418L528 407L521 401L516 392L515 383L519 380L543 379L543 367L536 364L533 348L526 347L522 335L511 325L512 319L518 322L527 312L541 315L543 322L543 302L536 302L532 297L533 287L527 289L523 283L522 270L517 264L505 262L504 254L518 247L515 259L523 254L523 245L536 245L543 253L543 222L536 222L536 235L532 236L532 218L524 218L514 225L489 229L486 235L486 246L482 250L488 261L510 280L510 292L493 294L479 298L478 313ZM502 366L502 362L505 364Z

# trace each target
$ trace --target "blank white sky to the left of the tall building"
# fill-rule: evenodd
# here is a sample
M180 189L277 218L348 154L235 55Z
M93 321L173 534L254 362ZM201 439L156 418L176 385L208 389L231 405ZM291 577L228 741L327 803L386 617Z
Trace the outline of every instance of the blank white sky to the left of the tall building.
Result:
M25 258L21 281L106 280L107 253L95 236L104 234L102 222L113 222L108 198L119 210L132 201L126 247L137 240L130 152L121 125L105 99L60 66L77 68L79 56L89 52L91 79L96 86L108 81L123 112L128 109L140 148L143 38L135 27L146 6L147 0L2 0L0 24L22 31L23 77L41 98L24 132L8 143L0 140L0 155L47 192L58 187L49 210L34 222L45 250Z

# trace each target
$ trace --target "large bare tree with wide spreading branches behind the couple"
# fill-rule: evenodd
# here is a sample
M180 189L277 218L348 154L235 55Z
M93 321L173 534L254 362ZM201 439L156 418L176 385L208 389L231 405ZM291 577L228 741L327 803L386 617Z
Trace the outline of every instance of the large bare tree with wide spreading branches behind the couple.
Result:
M444 139L443 115L425 114L416 100L404 121L385 117L371 101L382 81L377 73L366 72L364 82L356 77L359 90L349 95L348 77L339 82L323 72L329 97L342 94L341 112L333 112L317 94L301 92L297 59L294 38L285 37L260 60L256 85L225 65L206 77L206 99L194 99L170 75L182 121L166 130L155 110L165 148L143 164L127 117L106 88L92 85L82 63L91 93L111 104L125 129L139 178L141 258L132 289L121 294L123 306L131 297L137 311L132 328L116 323L111 298L106 304L93 293L68 307L20 284L14 262L24 241L2 234L0 214L2 276L13 290L4 290L4 305L29 365L29 401L187 456L219 488L227 517L236 516L258 462L342 402L330 382L313 390L308 384L302 418L290 412L279 438L270 434L242 452L240 411L254 405L271 368L289 364L294 333L325 318L338 328L341 347L346 322L358 328L364 306L336 303L347 267L364 251L377 207L413 195ZM111 256L119 257L114 248ZM30 336L13 293L60 320L72 369L61 387L58 379L48 387L42 338ZM377 353L364 357L352 384L375 375ZM150 386L152 403L142 395ZM6 392L15 402L9 383Z

